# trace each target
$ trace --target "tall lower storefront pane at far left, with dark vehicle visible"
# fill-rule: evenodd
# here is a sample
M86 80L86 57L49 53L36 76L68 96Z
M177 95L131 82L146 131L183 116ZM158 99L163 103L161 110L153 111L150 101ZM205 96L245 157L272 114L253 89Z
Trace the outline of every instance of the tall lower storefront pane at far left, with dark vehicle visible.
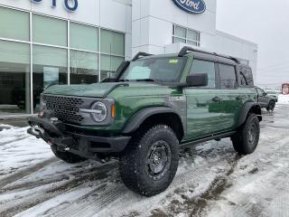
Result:
M30 46L0 40L0 116L30 113Z

